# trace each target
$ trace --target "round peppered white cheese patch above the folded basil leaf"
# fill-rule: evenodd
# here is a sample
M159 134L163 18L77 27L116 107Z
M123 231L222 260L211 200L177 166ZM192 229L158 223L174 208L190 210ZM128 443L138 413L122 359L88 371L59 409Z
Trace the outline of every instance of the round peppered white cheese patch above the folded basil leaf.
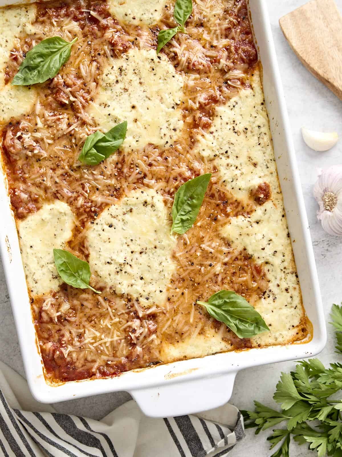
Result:
M183 126L183 80L165 55L131 49L104 70L102 84L88 113L106 131L127 121L122 148L136 150L149 143L172 142Z

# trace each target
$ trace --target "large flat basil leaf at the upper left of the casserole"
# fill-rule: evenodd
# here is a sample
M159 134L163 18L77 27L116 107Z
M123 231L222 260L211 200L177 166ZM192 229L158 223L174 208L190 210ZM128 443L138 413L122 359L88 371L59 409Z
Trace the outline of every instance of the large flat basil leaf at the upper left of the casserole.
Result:
M77 39L69 43L61 37L51 37L36 44L26 54L11 84L31 85L54 78L69 59L71 47Z

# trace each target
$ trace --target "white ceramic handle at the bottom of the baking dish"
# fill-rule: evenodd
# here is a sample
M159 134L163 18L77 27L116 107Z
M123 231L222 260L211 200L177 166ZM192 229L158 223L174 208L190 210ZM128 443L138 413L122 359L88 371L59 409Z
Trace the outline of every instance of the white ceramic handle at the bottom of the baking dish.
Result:
M217 408L228 402L236 372L138 389L130 394L150 417L173 417Z

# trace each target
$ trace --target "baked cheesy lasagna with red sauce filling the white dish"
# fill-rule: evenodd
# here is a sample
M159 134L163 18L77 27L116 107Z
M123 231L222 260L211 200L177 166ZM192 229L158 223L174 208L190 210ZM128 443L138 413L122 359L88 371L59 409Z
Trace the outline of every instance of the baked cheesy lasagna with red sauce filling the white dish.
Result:
M174 0L0 9L2 166L49 383L309 336L246 1L193 0L157 53L174 9ZM49 37L77 38L57 74L12 84ZM122 122L113 154L80 163L90 135ZM208 173L196 221L171 231L176 192ZM63 281L54 249L88 263L92 289ZM269 330L238 337L197 303L221 290Z

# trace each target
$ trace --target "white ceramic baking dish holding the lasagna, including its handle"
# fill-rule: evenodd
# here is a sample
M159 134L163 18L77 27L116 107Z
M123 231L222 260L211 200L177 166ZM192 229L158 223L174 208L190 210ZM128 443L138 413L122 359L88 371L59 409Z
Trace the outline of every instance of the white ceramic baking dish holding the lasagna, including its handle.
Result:
M0 4L4 3L10 2L0 0ZM307 344L273 346L179 361L123 373L112 379L71 382L57 387L49 386L45 382L41 357L37 351L36 334L32 324L16 226L4 180L0 179L2 261L27 381L32 394L38 401L55 403L124 390L132 394L147 415L166 417L193 413L227 402L232 394L234 379L239 370L267 363L315 356L325 346L326 327L315 259L268 13L264 0L250 0L249 9L259 57L264 69L264 94L269 112L275 157L290 235L291 239L295 240L293 248L304 306L313 324L313 339Z

